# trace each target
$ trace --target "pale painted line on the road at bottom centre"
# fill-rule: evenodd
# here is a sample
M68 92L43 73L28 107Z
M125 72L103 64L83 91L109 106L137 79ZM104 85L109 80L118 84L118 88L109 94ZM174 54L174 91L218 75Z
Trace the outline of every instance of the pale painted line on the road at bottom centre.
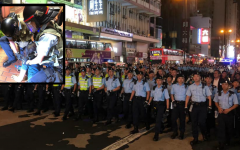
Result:
M151 131L153 128L154 127L151 127L149 130L146 130L146 128L142 128L142 129L139 130L139 133L130 134L127 137L125 137L125 138L123 138L123 139L121 139L121 140L119 140L119 141L117 141L117 142L115 142L115 143L105 147L102 150L116 150L116 149L118 149L118 148L120 148L120 147L122 147L122 146L124 146L124 145L126 145L126 144L128 144L128 143L130 143L132 141L134 141L135 139L141 137L143 134Z

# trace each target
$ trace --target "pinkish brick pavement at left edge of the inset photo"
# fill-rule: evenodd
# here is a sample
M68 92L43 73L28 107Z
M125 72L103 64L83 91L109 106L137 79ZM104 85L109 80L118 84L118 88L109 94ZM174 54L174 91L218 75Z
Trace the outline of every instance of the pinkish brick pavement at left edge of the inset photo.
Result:
M12 75L18 75L20 72L17 71L15 65L21 65L21 61L17 61L10 66L4 68L3 62L8 59L7 55L5 54L4 50L0 48L0 83L2 82L15 82L11 79Z

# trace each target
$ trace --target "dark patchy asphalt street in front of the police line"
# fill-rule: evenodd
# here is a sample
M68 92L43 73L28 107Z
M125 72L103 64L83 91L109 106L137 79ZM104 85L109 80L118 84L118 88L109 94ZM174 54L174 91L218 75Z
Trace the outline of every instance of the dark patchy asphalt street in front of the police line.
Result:
M62 110L63 111L63 110ZM184 140L170 138L172 132L165 129L160 134L159 141L152 140L154 136L154 125L149 131L140 126L140 132L130 135L131 129L125 129L124 121L114 122L104 126L104 122L92 124L90 119L83 118L74 121L70 118L62 121L60 117L55 118L52 111L43 113L41 116L33 116L25 110L0 111L0 146L1 150L191 150L189 142L192 140L191 124L186 125ZM201 142L193 147L194 150L216 149L218 142L212 131L208 142ZM234 139L229 150L239 150L239 139Z

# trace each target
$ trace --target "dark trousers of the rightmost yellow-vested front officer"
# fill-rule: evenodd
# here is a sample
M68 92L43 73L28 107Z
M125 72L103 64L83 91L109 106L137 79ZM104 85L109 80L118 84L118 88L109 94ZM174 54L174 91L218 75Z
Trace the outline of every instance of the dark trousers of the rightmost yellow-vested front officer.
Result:
M102 107L102 91L101 92L98 91L93 94L93 111L95 120L98 120L101 107Z

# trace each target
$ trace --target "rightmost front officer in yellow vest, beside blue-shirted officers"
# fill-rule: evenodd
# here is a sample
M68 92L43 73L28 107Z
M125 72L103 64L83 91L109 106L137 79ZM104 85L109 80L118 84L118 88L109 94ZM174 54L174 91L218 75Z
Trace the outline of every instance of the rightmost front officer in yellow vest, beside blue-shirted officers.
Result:
M99 113L102 106L103 89L105 85L104 78L100 75L101 68L96 67L95 75L92 78L92 94L93 94L93 109L94 109L94 120L93 123L99 121Z

